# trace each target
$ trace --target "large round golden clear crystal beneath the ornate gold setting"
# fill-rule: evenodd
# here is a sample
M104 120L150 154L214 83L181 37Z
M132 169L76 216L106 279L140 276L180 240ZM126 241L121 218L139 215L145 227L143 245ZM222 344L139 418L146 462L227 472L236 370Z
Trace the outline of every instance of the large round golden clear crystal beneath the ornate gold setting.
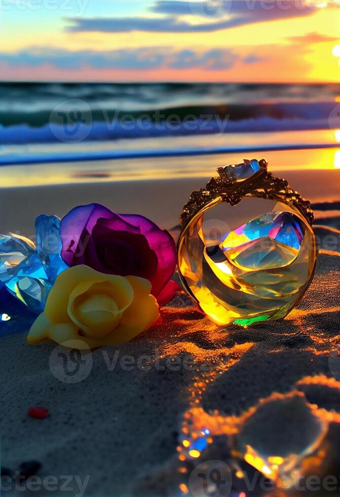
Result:
M304 295L316 262L314 233L284 202L218 197L185 227L181 278L201 309L221 325L285 316Z

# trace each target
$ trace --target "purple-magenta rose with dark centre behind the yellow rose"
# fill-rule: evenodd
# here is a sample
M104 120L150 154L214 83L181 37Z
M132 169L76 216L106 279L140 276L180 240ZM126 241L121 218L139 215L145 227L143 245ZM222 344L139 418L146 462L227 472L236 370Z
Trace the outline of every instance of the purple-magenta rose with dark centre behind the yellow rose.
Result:
M173 297L175 242L166 230L137 214L115 214L100 204L74 207L60 223L61 257L68 266L148 279L159 304Z

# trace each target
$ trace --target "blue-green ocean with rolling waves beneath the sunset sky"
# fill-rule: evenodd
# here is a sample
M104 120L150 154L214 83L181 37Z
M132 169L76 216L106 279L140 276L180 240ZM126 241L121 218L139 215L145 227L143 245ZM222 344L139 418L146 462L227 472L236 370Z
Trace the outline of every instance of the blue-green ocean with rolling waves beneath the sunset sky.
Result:
M0 145L340 128L340 84L2 83Z

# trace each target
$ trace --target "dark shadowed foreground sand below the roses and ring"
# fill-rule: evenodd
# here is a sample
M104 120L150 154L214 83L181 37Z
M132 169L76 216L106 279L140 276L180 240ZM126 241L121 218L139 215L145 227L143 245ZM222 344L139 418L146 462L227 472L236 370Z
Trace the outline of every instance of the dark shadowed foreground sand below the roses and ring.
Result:
M156 326L129 343L93 351L73 380L53 366L54 343L28 346L26 333L2 338L2 465L14 471L34 459L42 465L41 479L57 477L55 492L36 495L159 496L179 494L197 464L222 459L234 473L238 490L232 495L239 495L246 488L235 468L250 467L232 447L248 437L266 454L266 444L276 437L277 456L299 447L305 466L298 467L305 475L338 475L333 433L340 428L340 359L334 357L339 261L338 253L322 252L297 309L283 321L249 329L217 327L178 295ZM260 399L270 396L256 417ZM291 402L317 407L294 408ZM48 408L49 416L29 418L32 406ZM249 409L253 425L242 418ZM278 412L289 414L280 426ZM315 420L324 433L312 450ZM181 440L195 437L202 423L211 437L193 459ZM319 457L317 473L312 454ZM72 477L66 493L60 490L65 475ZM85 489L78 488L75 475Z

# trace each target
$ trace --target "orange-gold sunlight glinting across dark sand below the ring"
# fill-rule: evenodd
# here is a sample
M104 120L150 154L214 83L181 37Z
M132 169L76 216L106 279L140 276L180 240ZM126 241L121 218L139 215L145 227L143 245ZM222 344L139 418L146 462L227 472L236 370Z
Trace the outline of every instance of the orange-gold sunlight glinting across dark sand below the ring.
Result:
M310 292L313 294L326 284L330 292L335 290L338 285L336 274L319 274ZM320 316L318 321L324 313L335 315L338 310L337 305L321 308L313 304L313 315ZM308 338L301 351L310 354L310 362L317 358L327 361L340 337L330 337L317 326L310 326L310 315L310 306L309 310L303 307L292 311L287 319L288 330L291 328L292 331L283 333L281 330L280 336L295 335L298 330ZM207 410L203 407L203 396L210 386L220 375L228 375L246 354L256 354L257 340L251 341L256 333L247 331L249 341L240 343L237 330L230 328L227 332L210 322L194 305L165 308L161 322L152 330L160 333L165 327L171 328L173 339L164 340L160 356L164 359L188 355L194 358L193 377L187 387L188 407L183 414L177 446L178 487L182 494L190 491L188 475L193 468L220 457L225 457L224 462L240 482L239 495L242 495L242 485L249 478L249 467L269 478L282 495L291 488L284 487L287 478L294 484L304 475L323 475L329 471L330 427L340 424L340 409L336 408L334 401L336 396L340 399L340 381L325 375L302 376L294 380L288 392L274 391L237 415L233 411L226 414L217 409ZM274 340L268 354L283 351L283 348L275 350L277 344ZM328 389L330 394L320 395L320 389ZM335 408L324 403L326 397L333 399ZM285 425L284 436L261 435L265 431L267 434L278 433L280 425ZM224 440L222 444L228 455L221 456L218 452L221 440Z

